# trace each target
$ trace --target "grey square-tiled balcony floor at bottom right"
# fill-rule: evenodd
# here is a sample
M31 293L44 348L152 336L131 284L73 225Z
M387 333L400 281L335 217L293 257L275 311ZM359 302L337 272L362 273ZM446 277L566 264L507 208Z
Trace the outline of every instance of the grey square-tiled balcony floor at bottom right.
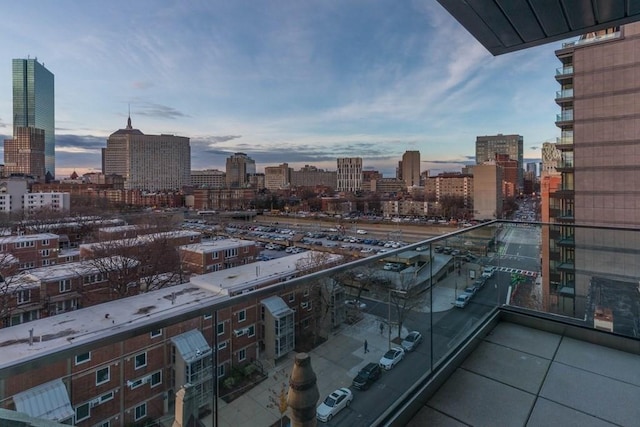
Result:
M409 426L635 426L640 356L498 324Z

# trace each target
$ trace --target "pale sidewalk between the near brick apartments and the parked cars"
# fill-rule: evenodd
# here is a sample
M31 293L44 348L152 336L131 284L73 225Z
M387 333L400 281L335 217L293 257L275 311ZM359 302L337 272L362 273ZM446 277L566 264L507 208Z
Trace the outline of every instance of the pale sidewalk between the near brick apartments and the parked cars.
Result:
M474 264L469 267L476 268ZM456 272L449 274L433 288L433 311L442 312L453 307L456 286L460 293L471 283L473 279L468 277L468 268L463 266L466 273L458 276ZM479 271L479 270L478 270ZM429 307L419 309L429 312ZM380 322L384 323L383 333L380 333ZM329 336L327 342L313 349L311 366L317 377L320 400L324 399L333 390L340 387L349 387L358 371L367 363L378 363L382 355L389 348L387 319L363 314L363 318L353 324L344 325ZM409 331L402 330L404 337ZM397 336L397 330L391 331L391 339ZM367 340L369 351L364 353L364 341ZM285 359L278 362L277 366L269 370L269 377L262 383L249 390L243 396L231 403L225 403L219 399L219 422L223 426L254 427L270 426L277 422L280 413L277 409L270 409L273 396L280 390L281 383L288 383L288 375L293 366L294 353L290 353ZM275 375L274 375L275 374ZM277 377L277 380L274 378Z

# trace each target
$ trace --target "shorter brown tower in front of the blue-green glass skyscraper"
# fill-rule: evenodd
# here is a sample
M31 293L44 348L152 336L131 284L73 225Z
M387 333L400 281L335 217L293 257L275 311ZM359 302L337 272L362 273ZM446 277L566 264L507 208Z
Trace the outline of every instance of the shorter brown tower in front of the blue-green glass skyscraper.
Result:
M7 176L18 174L45 181L43 129L18 126L13 138L4 141L4 166Z

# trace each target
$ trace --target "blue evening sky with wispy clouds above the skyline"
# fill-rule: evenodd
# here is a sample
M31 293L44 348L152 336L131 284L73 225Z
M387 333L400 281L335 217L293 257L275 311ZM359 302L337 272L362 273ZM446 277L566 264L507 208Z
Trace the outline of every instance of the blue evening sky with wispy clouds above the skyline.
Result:
M478 135L520 134L525 159L559 135L548 44L489 54L436 0L22 0L2 7L0 139L12 134L13 58L55 75L56 177L99 172L127 122L191 139L192 169L247 153L260 172L386 177L407 150L459 171ZM526 161L526 160L525 160Z

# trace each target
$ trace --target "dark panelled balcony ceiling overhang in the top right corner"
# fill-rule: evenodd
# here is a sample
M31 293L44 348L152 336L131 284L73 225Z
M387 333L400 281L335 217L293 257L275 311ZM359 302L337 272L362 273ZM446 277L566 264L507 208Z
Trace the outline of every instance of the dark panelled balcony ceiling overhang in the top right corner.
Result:
M640 0L438 0L501 55L640 20Z

